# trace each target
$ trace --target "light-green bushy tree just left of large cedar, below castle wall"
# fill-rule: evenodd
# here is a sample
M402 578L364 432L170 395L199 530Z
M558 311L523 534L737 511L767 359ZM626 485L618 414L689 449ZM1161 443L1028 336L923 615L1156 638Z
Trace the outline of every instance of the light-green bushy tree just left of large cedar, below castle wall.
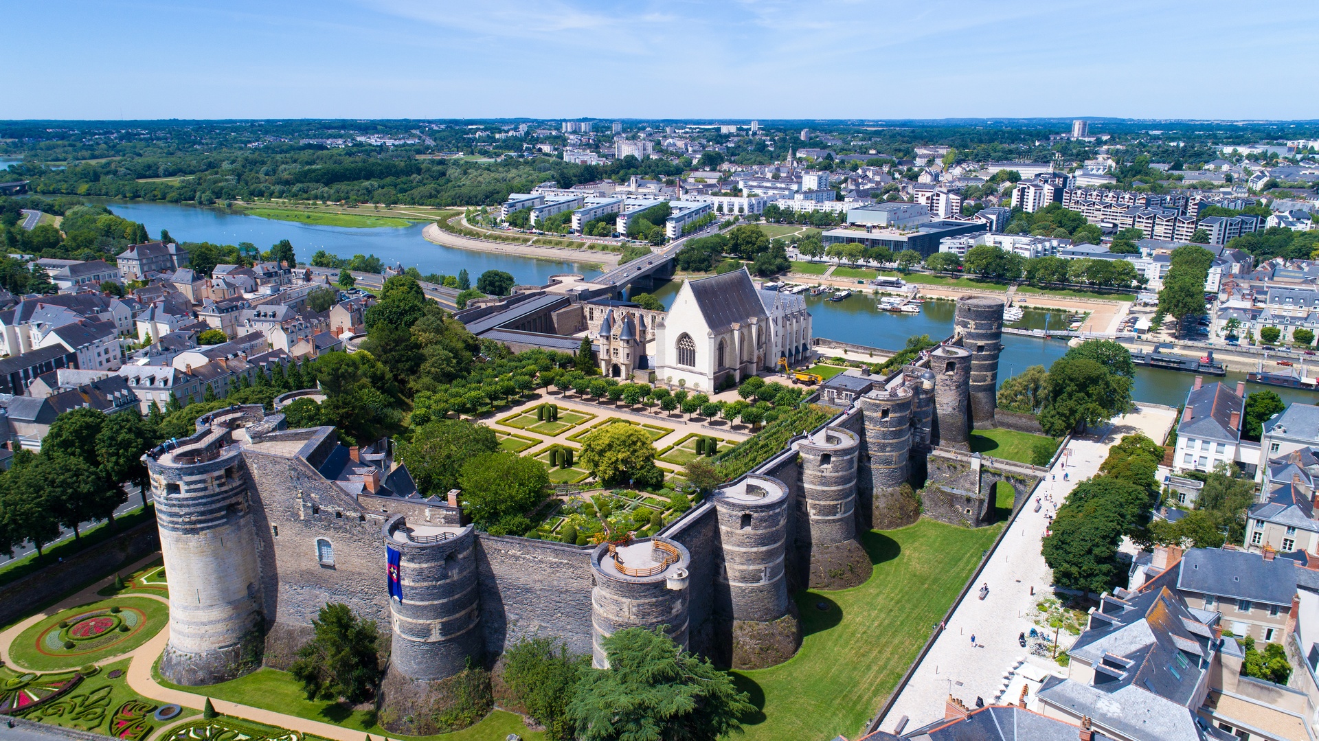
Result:
M524 636L504 653L504 683L528 715L545 726L546 741L572 741L575 724L567 708L590 668L588 657L570 654L567 643L554 638Z

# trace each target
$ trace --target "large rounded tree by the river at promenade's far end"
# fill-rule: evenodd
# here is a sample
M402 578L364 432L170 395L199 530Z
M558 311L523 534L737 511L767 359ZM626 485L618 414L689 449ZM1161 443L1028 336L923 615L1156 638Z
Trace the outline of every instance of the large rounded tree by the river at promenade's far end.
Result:
M1062 357L1049 368L1039 425L1050 436L1079 432L1132 405L1132 380L1088 357Z

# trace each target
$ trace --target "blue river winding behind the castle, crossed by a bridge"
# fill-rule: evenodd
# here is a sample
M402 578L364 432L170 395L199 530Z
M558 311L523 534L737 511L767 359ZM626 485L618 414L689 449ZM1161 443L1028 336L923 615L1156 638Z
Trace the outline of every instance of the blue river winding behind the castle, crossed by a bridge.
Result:
M466 268L475 282L485 270L496 269L512 273L518 283L543 283L554 273L583 272L571 262L533 260L509 254L492 254L452 249L431 244L422 239L422 224L402 228L347 228L318 227L295 222L280 222L248 216L223 208L198 208L173 203L146 202L104 202L111 211L135 222L141 222L153 235L160 229L178 240L211 241L216 244L237 244L251 241L261 249L288 239L299 260L309 260L318 249L351 257L352 254L375 254L386 264L401 262L405 268L415 266L422 273L456 274ZM594 270L587 276L596 274ZM678 293L679 283L669 282L654 291L656 297L669 306ZM824 297L806 295L806 305L814 316L815 335L857 344L881 348L901 348L913 335L930 335L943 339L952 334L951 301L927 301L921 314L898 314L877 311L874 298L856 293L852 297L831 302ZM1026 310L1025 318L1014 324L1022 328L1062 328L1064 316L1059 312ZM1004 352L998 365L998 378L1004 380L1021 373L1030 365L1049 367L1067 352L1067 343L1004 335ZM1227 381L1236 384L1245 380L1245 368L1231 369ZM1136 369L1133 396L1137 401L1178 406L1186 401L1186 393L1194 382L1194 374L1177 370L1151 368ZM1212 381L1213 378L1207 378ZM1256 386L1270 389L1285 402L1299 401L1315 403L1316 394L1297 389Z

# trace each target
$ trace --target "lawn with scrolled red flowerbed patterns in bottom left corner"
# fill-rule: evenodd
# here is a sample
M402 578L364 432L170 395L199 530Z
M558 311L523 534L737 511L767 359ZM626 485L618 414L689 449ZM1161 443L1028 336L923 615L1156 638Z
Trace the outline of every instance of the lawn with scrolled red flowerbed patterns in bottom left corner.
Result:
M37 708L22 713L22 717L63 728L77 728L79 730L91 730L106 736L113 736L111 733L109 724L115 717L115 712L123 707L124 703L137 700L146 704L153 711L161 705L161 703L149 700L137 692L133 692L128 687L128 678L124 676L124 674L128 671L129 661L131 659L123 659L99 667L95 674L83 679L63 697L38 705ZM115 671L119 671L120 674L111 679L109 674ZM0 687L11 680L21 682L17 678L17 672L11 671L8 667L0 667ZM49 678L47 682L58 679L61 679L61 676L54 675ZM199 715L198 711L183 708L183 712L171 719L169 723L195 715ZM144 723L149 726L148 733L165 725L165 723L153 720L150 715L145 717ZM145 737L145 734L142 737Z

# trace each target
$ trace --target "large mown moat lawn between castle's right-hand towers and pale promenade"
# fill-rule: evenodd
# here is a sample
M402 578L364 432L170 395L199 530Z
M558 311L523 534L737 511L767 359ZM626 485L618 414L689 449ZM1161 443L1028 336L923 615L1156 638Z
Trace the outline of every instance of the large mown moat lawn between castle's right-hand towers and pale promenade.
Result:
M855 738L915 661L1000 527L921 519L863 534L874 563L869 581L842 592L799 592L805 639L797 655L776 667L733 672L761 709L741 738Z

